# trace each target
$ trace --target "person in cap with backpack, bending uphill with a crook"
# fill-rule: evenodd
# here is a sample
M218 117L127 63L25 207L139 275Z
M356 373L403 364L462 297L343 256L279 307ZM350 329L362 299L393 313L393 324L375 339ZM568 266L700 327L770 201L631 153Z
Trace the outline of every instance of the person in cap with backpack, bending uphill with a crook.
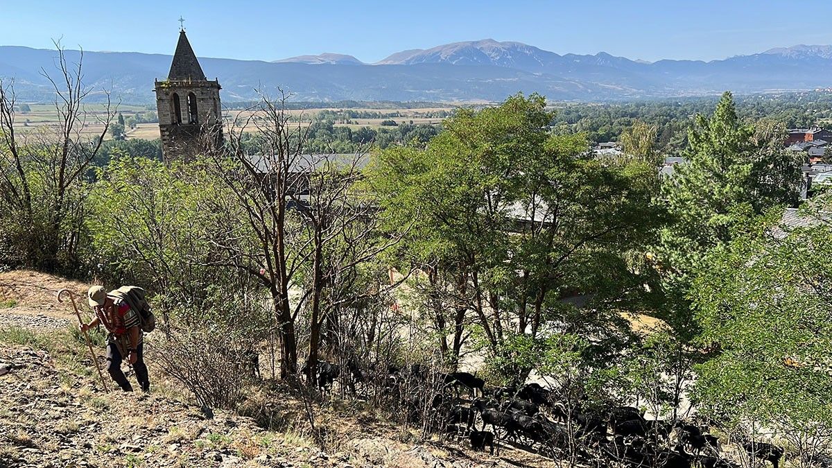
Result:
M126 357L136 371L141 391L147 393L151 389L151 382L147 378L147 366L142 356L144 332L141 331L139 312L134 311L117 293L118 290L108 294L102 286L92 286L87 291L87 299L96 317L90 323L82 323L81 331L102 324L110 332L107 336L106 360L112 380L116 381L121 390L133 391L121 371L121 361Z

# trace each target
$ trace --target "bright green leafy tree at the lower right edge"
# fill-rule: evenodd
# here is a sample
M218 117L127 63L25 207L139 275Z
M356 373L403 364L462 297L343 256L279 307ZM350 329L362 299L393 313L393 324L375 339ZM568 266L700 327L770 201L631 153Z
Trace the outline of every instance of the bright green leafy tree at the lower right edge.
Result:
M692 289L713 354L699 369L701 409L733 429L774 430L805 456L832 441L830 246L828 222L764 222L707 256Z

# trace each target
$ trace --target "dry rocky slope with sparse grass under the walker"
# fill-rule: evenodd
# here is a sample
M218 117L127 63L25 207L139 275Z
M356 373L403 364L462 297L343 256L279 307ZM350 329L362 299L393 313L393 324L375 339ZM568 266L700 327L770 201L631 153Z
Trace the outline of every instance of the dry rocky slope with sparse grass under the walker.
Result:
M0 468L557 466L509 447L488 456L463 443L422 441L376 416L352 415L359 410L349 405L334 410L332 401L318 409L319 423L333 430L320 451L302 424L266 431L249 417L196 405L158 373L150 396L106 392L69 331L72 309L56 301L63 287L86 289L32 271L0 274ZM96 351L103 361L103 348Z

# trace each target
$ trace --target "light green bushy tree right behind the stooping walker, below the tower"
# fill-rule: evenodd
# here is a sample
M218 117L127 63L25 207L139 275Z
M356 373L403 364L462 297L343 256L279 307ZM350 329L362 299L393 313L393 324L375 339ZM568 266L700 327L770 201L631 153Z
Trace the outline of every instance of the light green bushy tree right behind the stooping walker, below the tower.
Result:
M233 222L202 209L225 194L203 168L121 156L97 178L87 228L99 275L146 287L189 322L217 306L213 295L241 286L236 271L210 266L219 250L210 240Z

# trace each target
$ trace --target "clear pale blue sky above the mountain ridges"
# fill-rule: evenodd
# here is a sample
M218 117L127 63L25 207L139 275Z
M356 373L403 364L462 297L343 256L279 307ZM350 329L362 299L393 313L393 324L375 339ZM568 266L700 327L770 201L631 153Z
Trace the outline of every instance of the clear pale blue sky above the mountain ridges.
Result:
M829 8L830 0L0 0L0 45L46 48L62 37L69 48L171 54L181 15L201 57L340 52L376 62L404 49L491 37L557 53L711 60L832 44Z

